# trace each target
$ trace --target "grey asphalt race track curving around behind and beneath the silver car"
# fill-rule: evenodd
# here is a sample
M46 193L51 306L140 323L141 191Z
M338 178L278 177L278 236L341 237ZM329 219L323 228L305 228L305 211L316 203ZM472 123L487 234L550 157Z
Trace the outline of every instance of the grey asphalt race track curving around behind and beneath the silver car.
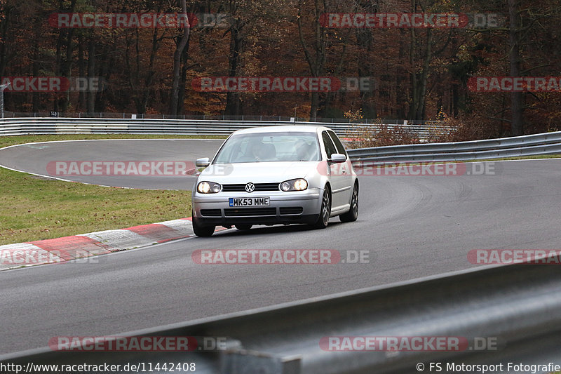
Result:
M0 164L45 173L53 160L189 160L219 141L43 143L0 151ZM60 155L63 156L60 156ZM467 164L471 170L472 164ZM0 354L55 336L115 335L475 267L472 249L561 249L561 159L491 164L489 175L363 175L357 222L224 230L69 262L0 272ZM42 171L41 171L42 170ZM82 182L190 189L192 177L98 177ZM109 178L109 180L107 179ZM65 178L69 179L69 178ZM77 180L77 179L75 179ZM76 233L78 234L78 233ZM370 251L368 263L198 265L198 249Z

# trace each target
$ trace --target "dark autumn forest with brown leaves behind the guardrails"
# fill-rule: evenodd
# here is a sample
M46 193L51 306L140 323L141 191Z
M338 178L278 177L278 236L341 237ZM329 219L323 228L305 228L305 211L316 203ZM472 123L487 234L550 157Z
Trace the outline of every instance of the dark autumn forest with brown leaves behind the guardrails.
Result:
M193 27L56 27L54 13L189 13L199 20ZM328 13L492 14L498 24L334 28L325 27ZM227 18L205 25L203 15ZM6 91L11 112L313 120L360 111L363 119L440 120L455 129L455 138L431 141L493 138L560 130L561 90L468 87L473 76L561 76L560 21L556 0L0 0L0 76L104 82L98 91ZM310 93L201 92L191 84L209 76L369 77L375 85ZM390 132L381 128L379 138Z

